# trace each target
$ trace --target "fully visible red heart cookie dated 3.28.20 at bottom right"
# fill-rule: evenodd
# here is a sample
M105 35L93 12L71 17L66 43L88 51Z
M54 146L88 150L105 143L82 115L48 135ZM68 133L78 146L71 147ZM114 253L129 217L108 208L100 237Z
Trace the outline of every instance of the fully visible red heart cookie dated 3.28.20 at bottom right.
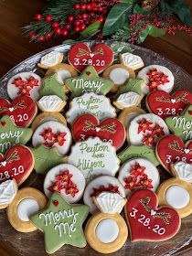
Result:
M148 189L133 192L125 205L131 240L168 240L180 228L181 220L174 208L157 208L155 193Z

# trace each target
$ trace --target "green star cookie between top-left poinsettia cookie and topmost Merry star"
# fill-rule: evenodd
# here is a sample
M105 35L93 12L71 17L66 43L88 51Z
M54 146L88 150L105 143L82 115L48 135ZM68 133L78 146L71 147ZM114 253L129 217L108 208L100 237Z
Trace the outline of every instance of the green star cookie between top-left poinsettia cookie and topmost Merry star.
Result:
M64 87L57 80L57 73L43 79L43 87L40 90L41 96L57 95L63 101L67 100Z

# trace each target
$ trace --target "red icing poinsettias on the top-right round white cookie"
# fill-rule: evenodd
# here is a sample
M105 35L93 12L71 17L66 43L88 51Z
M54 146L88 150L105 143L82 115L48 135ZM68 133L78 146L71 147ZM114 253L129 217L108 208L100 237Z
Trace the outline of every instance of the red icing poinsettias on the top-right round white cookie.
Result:
M159 72L157 69L150 69L146 74L148 76L149 82L148 86L150 91L155 91L160 85L164 85L169 82L168 76L164 72Z

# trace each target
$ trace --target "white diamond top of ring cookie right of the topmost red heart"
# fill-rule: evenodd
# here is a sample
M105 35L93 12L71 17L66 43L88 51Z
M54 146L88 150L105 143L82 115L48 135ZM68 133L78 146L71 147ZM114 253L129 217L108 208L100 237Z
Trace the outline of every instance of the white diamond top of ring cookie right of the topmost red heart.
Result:
M138 55L134 55L130 52L120 54L120 61L123 62L123 65L133 70L141 69L144 67L143 59L141 59L141 57Z

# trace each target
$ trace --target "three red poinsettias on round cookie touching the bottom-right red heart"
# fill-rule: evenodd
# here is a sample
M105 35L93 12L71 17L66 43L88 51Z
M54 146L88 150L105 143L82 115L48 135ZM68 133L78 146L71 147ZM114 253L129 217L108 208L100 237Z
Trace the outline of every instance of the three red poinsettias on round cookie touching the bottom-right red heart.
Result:
M144 170L145 167L141 166L139 163L133 165L129 176L123 179L125 182L124 188L130 189L131 191L138 187L153 188L153 180L144 174Z

